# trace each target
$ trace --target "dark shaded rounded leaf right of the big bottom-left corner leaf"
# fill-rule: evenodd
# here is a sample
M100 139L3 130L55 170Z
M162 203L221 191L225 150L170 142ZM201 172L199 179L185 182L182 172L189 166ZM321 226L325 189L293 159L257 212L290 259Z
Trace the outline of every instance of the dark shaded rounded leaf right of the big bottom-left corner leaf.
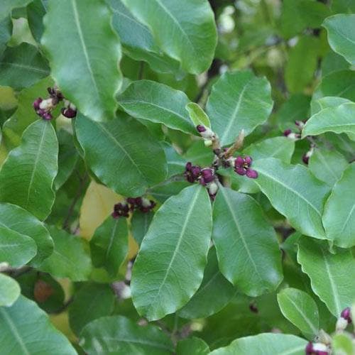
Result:
M69 307L70 328L79 335L86 324L110 315L114 310L115 296L110 285L87 283L77 293Z

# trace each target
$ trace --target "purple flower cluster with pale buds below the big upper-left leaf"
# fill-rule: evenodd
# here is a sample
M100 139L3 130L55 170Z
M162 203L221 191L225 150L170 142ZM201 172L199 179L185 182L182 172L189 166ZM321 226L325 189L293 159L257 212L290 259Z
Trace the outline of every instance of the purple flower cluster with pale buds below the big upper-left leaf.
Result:
M38 97L33 102L33 109L38 116L41 116L45 120L53 119L52 111L59 104L59 102L64 102L64 107L62 108L62 115L68 119L72 119L77 115L76 107L65 99L62 93L57 87L48 87L49 97L47 99L42 99Z

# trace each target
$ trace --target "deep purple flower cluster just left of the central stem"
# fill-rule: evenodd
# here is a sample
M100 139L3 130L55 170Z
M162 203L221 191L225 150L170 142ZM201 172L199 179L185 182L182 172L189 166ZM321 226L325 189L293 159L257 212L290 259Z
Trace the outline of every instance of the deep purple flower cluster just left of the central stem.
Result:
M218 185L216 183L216 175L213 168L201 168L199 165L192 165L189 161L185 166L185 178L188 182L199 182L206 186L209 197L214 200L217 194Z

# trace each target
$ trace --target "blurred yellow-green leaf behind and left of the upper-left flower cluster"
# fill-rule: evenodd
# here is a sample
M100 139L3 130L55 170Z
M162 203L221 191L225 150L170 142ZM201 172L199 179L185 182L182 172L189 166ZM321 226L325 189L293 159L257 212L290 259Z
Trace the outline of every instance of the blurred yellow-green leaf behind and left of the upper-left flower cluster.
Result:
M38 121L38 114L35 113L32 104L37 97L46 97L47 88L51 86L53 86L53 80L47 77L21 90L18 95L17 109L3 126L4 141L7 147L18 146L21 143L23 131L34 121Z

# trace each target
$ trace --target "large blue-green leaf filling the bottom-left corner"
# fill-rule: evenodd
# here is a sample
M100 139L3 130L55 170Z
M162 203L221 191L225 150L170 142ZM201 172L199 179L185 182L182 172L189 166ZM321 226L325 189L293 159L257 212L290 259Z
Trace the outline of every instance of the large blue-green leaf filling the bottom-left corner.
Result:
M26 297L18 297L11 307L0 307L0 328L1 354L77 354L48 315Z

